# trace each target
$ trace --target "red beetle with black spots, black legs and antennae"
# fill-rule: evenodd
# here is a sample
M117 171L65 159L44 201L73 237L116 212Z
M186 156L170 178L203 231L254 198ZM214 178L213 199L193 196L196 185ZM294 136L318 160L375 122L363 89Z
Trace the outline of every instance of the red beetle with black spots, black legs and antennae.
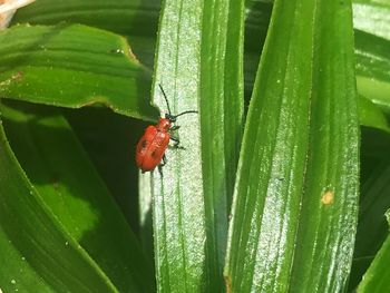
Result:
M174 125L177 117L189 113L197 113L195 110L188 110L173 115L165 91L162 85L158 86L163 92L168 113L165 114L165 117L160 117L156 125L149 125L137 144L136 163L143 173L154 170L158 166L159 173L163 174L162 167L167 163L165 150L169 141L175 141L174 147L179 148L181 141L177 137L172 135L172 131L179 128L179 126Z

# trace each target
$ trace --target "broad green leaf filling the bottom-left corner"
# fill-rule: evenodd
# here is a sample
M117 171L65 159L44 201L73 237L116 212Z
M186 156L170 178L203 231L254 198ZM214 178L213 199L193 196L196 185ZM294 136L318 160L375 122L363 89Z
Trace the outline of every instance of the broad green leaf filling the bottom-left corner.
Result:
M51 214L19 166L0 126L0 289L117 292Z

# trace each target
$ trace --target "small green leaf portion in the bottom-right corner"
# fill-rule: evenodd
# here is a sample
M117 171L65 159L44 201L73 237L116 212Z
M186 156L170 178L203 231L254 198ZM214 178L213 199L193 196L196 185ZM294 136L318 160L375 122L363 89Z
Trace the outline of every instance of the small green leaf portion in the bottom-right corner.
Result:
M386 213L389 219L389 211ZM389 224L389 222L388 222ZM362 282L357 290L358 293L381 293L389 291L390 287L390 236L388 235L382 247L376 255L376 258L371 263L369 270L363 275Z

